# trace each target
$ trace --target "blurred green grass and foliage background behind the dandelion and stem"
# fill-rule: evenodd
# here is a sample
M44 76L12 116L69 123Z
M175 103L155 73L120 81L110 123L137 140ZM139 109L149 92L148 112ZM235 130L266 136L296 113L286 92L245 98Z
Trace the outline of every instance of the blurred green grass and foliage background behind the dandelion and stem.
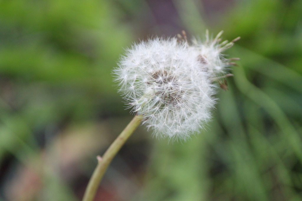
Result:
M1 0L0 200L81 200L131 120L111 70L147 37L241 36L206 131L144 126L95 200L302 200L301 0Z

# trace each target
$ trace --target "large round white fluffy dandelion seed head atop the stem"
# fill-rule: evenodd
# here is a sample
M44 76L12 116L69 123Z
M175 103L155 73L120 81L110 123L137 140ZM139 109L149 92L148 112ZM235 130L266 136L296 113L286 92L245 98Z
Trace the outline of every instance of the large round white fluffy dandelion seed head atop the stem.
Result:
M220 62L213 48L153 38L134 44L120 59L113 71L119 92L155 136L185 140L210 120L216 101L210 65Z

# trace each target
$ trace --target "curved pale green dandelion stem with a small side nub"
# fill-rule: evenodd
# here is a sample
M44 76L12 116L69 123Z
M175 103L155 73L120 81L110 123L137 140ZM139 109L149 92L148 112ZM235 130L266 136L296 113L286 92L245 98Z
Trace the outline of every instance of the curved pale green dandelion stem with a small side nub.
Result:
M140 121L142 120L141 115L135 115L134 118L130 121L130 123L126 126L126 128L120 133L120 135L114 140L114 142L110 145L107 151L104 153L103 157L97 156L98 165L95 168L88 186L86 188L84 197L82 201L92 201L95 197L96 190L101 182L101 179L108 168L111 160L120 150L120 148L124 145L126 140L130 137L130 135L134 132L135 129L140 125Z

